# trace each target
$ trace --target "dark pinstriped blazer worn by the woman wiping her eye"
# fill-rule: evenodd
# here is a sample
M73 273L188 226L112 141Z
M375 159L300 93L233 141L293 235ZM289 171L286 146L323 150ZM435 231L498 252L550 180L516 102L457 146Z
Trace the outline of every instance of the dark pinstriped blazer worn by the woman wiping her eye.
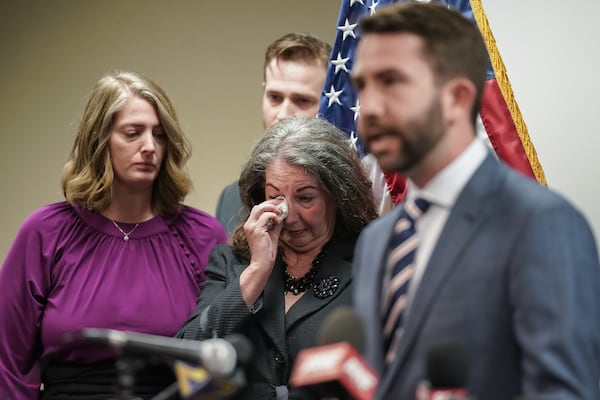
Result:
M351 304L354 244L355 239L333 240L321 263L316 282L335 276L339 279L337 291L320 299L309 289L287 314L280 258L262 296L248 307L239 281L248 261L236 257L228 246L216 246L205 269L207 279L197 307L177 336L202 340L241 333L252 342L254 357L246 368L249 385L236 398L275 399L277 390L288 389L290 399L305 398L302 391L286 385L298 352L316 346L323 320L335 308Z

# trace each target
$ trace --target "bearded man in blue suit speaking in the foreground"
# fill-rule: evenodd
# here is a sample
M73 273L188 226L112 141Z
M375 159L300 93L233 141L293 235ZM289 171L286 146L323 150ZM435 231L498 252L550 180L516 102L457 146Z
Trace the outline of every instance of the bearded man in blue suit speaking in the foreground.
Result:
M414 255L403 275L388 260L404 206L356 247L354 300L365 356L382 375L377 398L414 399L426 353L455 341L477 399L600 399L596 244L580 212L476 139L487 67L477 28L446 6L411 2L360 29L359 132L384 171L409 178L406 208L430 204L410 236L420 241L399 256ZM399 293L396 306L386 308L387 293ZM384 318L397 323L391 332Z

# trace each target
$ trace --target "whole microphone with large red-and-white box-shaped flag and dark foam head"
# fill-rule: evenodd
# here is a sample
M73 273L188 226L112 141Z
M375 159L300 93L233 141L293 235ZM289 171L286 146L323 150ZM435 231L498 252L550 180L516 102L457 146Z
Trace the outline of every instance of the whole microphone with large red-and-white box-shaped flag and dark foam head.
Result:
M372 400L379 377L359 353L364 341L354 310L337 308L319 329L319 346L298 353L290 384L306 387L321 398Z

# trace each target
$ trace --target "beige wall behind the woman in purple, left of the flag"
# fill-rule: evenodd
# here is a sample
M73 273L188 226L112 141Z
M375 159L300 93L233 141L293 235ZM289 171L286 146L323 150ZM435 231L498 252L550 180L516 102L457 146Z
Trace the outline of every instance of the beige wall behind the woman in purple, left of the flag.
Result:
M111 69L156 80L190 136L187 203L214 214L262 132L266 46L333 42L338 0L0 0L0 261L23 219L62 200L85 96Z

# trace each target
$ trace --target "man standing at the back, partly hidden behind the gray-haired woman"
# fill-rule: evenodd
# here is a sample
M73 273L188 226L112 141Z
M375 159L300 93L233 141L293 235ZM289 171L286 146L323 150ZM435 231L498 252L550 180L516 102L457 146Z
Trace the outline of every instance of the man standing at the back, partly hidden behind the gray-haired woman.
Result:
M263 77L265 129L292 115L317 115L330 53L329 44L306 33L289 33L269 45ZM215 216L231 235L244 214L236 181L221 192Z

